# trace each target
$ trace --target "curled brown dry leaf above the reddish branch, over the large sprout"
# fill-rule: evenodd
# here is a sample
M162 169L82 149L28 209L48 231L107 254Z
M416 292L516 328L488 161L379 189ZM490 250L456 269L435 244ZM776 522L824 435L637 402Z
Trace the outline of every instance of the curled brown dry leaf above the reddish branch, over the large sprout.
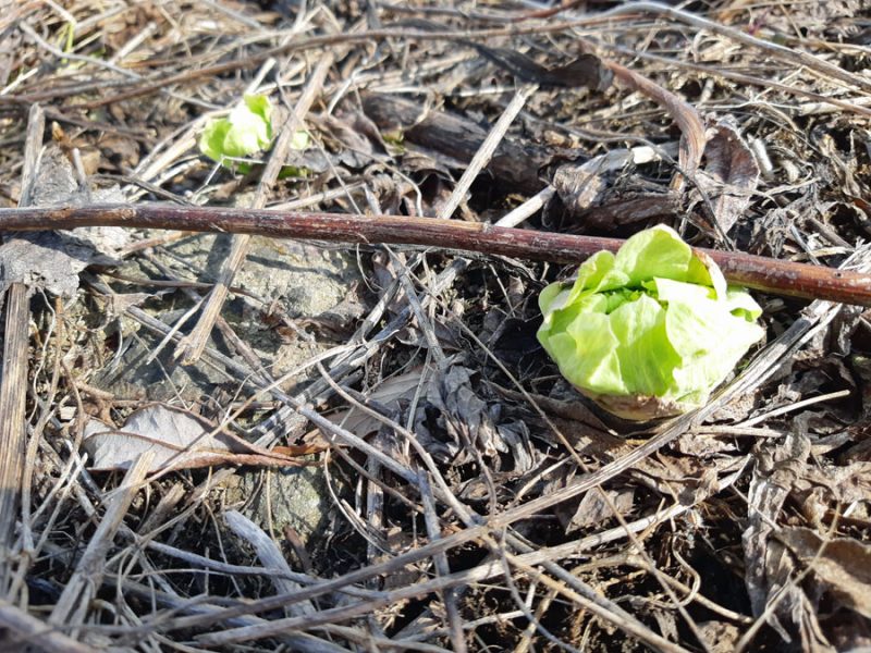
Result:
M759 165L738 130L727 121L708 130L704 159L704 171L696 180L711 200L714 219L725 234L750 205L759 184Z

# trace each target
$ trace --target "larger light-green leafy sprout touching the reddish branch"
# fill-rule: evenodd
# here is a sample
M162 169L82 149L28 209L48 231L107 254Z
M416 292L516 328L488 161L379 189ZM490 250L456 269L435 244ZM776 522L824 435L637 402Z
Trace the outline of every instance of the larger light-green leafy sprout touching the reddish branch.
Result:
M744 288L664 225L541 293L538 340L582 394L625 419L704 405L764 330Z

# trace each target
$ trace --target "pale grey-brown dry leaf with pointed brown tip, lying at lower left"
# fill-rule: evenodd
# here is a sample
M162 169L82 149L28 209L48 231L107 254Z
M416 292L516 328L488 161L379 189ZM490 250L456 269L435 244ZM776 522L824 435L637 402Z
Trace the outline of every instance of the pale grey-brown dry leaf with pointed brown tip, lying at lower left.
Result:
M152 452L149 473L211 465L295 467L298 460L255 446L187 410L150 404L136 410L123 429L97 419L85 426L82 448L90 469L127 469L145 452Z

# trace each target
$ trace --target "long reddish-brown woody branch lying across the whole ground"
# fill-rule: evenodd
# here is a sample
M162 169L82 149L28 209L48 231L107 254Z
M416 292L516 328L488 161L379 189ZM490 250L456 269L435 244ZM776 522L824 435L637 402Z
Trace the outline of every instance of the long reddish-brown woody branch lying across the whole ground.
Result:
M370 218L161 204L0 209L0 232L96 225L230 232L339 243L422 245L559 263L579 263L596 251L614 251L623 243L616 238L394 215ZM871 306L871 275L868 274L749 254L702 251L716 261L732 283L792 297Z

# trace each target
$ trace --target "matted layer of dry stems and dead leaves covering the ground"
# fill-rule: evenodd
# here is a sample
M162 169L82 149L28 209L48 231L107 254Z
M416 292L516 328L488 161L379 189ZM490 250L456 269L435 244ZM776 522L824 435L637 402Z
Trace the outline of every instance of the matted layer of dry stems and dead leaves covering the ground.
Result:
M70 0L0 35L4 207L664 222L869 264L858 0ZM197 136L250 93L273 146L216 165ZM757 294L766 343L639 426L536 343L565 266L183 223L3 237L3 650L871 645L862 307ZM308 532L280 481L314 483L287 508L318 504Z

